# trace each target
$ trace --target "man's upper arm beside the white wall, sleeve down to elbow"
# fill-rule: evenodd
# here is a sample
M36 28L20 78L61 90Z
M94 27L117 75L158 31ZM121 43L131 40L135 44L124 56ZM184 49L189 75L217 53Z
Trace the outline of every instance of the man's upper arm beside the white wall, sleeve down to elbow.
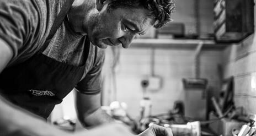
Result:
M83 80L76 85L76 106L79 116L85 116L97 110L100 105L102 90L102 67L105 54L100 51L95 55L95 63Z

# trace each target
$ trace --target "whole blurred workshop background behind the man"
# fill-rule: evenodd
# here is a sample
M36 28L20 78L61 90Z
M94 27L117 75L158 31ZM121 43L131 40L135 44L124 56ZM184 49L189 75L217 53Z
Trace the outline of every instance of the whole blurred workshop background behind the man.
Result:
M176 0L164 28L137 36L127 49L106 48L102 108L134 133L159 124L174 135L253 135L254 3ZM49 122L81 130L73 105L71 93Z

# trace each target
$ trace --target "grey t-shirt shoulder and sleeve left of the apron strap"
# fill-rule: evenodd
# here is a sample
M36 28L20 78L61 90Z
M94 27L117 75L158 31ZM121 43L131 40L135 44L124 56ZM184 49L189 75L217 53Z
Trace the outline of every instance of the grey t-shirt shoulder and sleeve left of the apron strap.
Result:
M0 38L13 50L10 65L33 56L43 45L60 1L1 0Z

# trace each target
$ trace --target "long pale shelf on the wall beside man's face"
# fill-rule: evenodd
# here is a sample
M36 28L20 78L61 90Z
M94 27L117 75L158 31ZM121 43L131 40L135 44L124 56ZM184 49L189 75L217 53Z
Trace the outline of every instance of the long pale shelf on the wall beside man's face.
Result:
M190 40L190 39L135 39L130 48L196 48L203 42L204 50L222 50L230 44L216 43L214 40Z

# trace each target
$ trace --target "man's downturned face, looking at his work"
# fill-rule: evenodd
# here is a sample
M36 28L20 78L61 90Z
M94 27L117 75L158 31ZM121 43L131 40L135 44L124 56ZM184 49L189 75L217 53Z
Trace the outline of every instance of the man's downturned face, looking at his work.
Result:
M99 11L97 20L88 26L90 41L100 47L122 45L130 46L131 41L138 35L145 34L153 26L154 20L147 17L147 10L143 8L117 8L108 11L105 4Z

